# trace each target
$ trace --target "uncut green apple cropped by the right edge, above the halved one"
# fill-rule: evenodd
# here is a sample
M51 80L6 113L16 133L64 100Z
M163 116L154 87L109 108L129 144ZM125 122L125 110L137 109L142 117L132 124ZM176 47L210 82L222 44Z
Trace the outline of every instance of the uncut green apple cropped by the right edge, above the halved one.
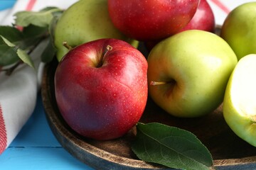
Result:
M256 2L242 4L231 11L223 23L220 36L241 57L256 53Z

